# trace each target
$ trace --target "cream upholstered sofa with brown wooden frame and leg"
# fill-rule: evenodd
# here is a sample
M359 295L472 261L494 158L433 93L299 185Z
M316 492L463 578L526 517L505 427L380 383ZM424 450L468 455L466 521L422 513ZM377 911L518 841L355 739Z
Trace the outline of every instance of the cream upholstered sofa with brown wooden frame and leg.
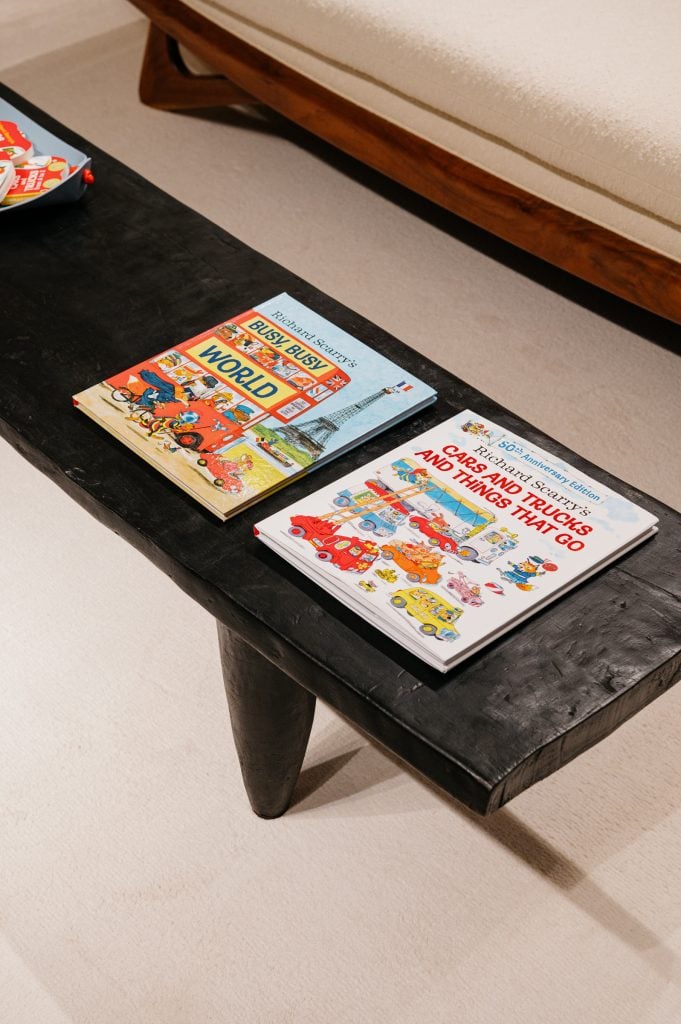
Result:
M133 2L152 20L145 101L255 97L448 209L681 322L680 4ZM228 82L190 75L176 42Z

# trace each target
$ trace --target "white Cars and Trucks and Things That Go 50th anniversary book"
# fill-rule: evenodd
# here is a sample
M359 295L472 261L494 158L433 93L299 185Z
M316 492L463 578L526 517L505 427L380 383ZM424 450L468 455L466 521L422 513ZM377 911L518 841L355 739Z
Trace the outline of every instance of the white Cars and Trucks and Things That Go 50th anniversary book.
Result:
M256 536L446 672L656 532L654 516L469 410Z

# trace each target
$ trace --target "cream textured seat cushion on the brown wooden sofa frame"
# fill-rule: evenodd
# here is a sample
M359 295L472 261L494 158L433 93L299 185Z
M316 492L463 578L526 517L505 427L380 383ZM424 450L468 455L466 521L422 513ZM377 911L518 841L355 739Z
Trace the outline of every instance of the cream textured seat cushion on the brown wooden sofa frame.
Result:
M681 258L675 0L189 0L347 98Z

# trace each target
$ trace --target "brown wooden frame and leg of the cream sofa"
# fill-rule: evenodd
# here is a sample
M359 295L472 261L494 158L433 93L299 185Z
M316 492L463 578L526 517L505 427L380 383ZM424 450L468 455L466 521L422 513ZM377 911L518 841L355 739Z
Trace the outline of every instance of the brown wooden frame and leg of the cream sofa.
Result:
M681 323L681 263L539 199L274 60L181 0L132 0L151 20L139 93L163 110L262 102L479 227ZM221 74L190 74L181 43Z

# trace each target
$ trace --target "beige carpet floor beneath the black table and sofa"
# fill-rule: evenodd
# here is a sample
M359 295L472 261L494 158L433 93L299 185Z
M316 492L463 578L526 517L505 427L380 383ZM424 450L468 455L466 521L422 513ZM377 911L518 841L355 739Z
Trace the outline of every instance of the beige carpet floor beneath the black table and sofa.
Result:
M140 106L143 26L96 17L3 51L4 81L681 507L677 328L599 315L276 119ZM6 445L0 479L2 1024L681 1021L681 687L488 821L320 708L260 821L209 616Z

